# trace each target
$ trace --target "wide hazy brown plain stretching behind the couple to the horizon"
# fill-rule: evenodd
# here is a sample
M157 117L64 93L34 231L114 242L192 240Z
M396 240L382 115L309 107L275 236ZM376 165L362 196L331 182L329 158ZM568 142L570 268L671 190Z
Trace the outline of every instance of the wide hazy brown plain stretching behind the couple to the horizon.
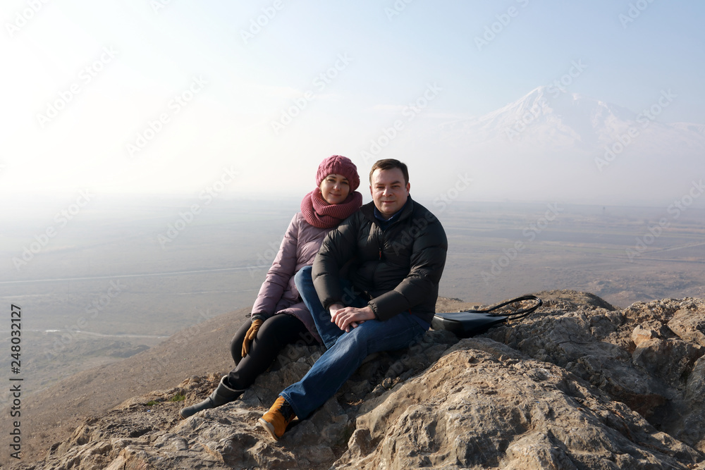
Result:
M448 235L442 297L488 305L572 289L627 307L705 296L705 209L419 202ZM252 305L298 201L192 203L101 199L65 225L51 209L3 208L14 222L0 228L0 297L22 308L25 392Z

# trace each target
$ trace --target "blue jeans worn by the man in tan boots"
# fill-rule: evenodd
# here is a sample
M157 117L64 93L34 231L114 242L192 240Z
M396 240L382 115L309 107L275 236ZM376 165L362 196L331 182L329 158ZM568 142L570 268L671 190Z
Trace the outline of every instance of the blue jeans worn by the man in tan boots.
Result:
M331 322L331 315L321 305L311 280L311 268L302 268L296 274L295 282L328 347L300 381L279 394L299 418L306 418L335 395L369 354L409 347L426 331L411 314L401 313L386 321L367 320L345 333ZM345 290L350 285L344 284L344 292L351 292ZM350 299L350 302L344 299L343 303L349 307L367 305L362 297Z

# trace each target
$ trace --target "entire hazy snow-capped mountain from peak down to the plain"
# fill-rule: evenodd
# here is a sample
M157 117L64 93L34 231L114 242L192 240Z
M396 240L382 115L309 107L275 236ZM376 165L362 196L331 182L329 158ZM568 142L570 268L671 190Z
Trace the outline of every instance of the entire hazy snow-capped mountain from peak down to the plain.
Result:
M446 121L435 137L455 171L474 175L472 197L666 204L705 173L705 125L659 120L674 97L663 90L635 112L538 87L484 116Z

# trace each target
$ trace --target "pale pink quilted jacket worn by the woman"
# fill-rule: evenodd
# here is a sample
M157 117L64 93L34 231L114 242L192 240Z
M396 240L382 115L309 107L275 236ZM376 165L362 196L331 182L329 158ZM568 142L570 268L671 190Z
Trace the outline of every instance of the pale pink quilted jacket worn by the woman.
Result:
M253 315L260 314L267 318L274 314L294 315L321 342L311 314L299 297L294 274L304 266L313 264L323 239L331 230L316 228L300 212L295 214L284 233L279 252L266 273L264 283L259 287L257 300L252 306Z

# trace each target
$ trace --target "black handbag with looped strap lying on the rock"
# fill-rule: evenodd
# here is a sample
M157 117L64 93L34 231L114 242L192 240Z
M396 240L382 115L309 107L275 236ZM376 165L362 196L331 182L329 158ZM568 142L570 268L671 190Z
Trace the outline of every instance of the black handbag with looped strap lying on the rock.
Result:
M522 300L532 300L536 303L529 308L519 309L509 313L491 313L496 309L501 309L501 307L504 307L505 305L513 304L514 302L521 302ZM435 314L434 319L431 321L431 328L434 330L448 330L451 333L455 333L458 338L470 338L471 336L484 333L493 326L497 326L507 320L523 319L525 316L532 314L534 310L541 307L542 304L544 304L544 302L539 299L539 297L536 297L535 295L525 295L523 297L508 300L507 302L502 302L501 304L490 307L489 309L454 311L446 314Z

